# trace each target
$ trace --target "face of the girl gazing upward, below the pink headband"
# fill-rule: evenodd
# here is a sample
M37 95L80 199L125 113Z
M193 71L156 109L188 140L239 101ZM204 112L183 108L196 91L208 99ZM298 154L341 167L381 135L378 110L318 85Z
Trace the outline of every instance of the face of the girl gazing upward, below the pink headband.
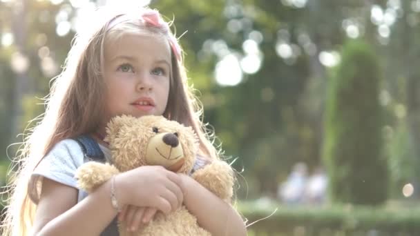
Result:
M104 51L108 118L162 115L172 71L168 40L155 35L126 34L106 43Z

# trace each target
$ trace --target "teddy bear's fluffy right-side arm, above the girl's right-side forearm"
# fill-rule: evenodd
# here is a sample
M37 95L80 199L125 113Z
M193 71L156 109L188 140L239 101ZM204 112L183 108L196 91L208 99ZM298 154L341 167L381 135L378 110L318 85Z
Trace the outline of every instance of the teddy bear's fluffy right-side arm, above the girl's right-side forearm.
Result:
M195 181L221 199L230 202L233 195L233 170L225 161L214 160L192 175Z

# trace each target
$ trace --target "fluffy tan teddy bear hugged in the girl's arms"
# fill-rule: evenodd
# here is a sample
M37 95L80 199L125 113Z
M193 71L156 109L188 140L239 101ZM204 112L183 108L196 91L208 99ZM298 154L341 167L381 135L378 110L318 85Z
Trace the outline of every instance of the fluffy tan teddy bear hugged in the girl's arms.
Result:
M198 138L193 129L162 116L114 117L106 128L111 163L88 161L77 169L79 188L91 193L113 175L144 165L160 165L175 173L190 175L212 193L230 203L233 170L220 159L213 159L193 171L198 161ZM137 233L118 223L120 235L211 235L198 225L185 206L164 215L159 213Z

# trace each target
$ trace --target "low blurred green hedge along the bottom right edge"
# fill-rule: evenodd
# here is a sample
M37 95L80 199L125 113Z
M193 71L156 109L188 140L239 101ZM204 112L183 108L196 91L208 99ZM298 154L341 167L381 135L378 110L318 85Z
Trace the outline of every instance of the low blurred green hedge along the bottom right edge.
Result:
M419 235L420 208L336 205L267 206L240 204L249 235ZM277 208L274 215L271 213ZM271 215L267 219L263 219ZM258 219L261 219L258 221ZM258 222L256 222L258 221ZM252 224L253 222L256 222Z

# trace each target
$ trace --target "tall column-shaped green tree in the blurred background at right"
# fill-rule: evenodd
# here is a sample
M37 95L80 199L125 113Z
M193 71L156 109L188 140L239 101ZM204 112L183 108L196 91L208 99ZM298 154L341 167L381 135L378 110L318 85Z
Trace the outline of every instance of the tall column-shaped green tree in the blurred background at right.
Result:
M381 204L388 197L383 155L381 68L367 43L349 41L330 83L324 158L334 202Z

